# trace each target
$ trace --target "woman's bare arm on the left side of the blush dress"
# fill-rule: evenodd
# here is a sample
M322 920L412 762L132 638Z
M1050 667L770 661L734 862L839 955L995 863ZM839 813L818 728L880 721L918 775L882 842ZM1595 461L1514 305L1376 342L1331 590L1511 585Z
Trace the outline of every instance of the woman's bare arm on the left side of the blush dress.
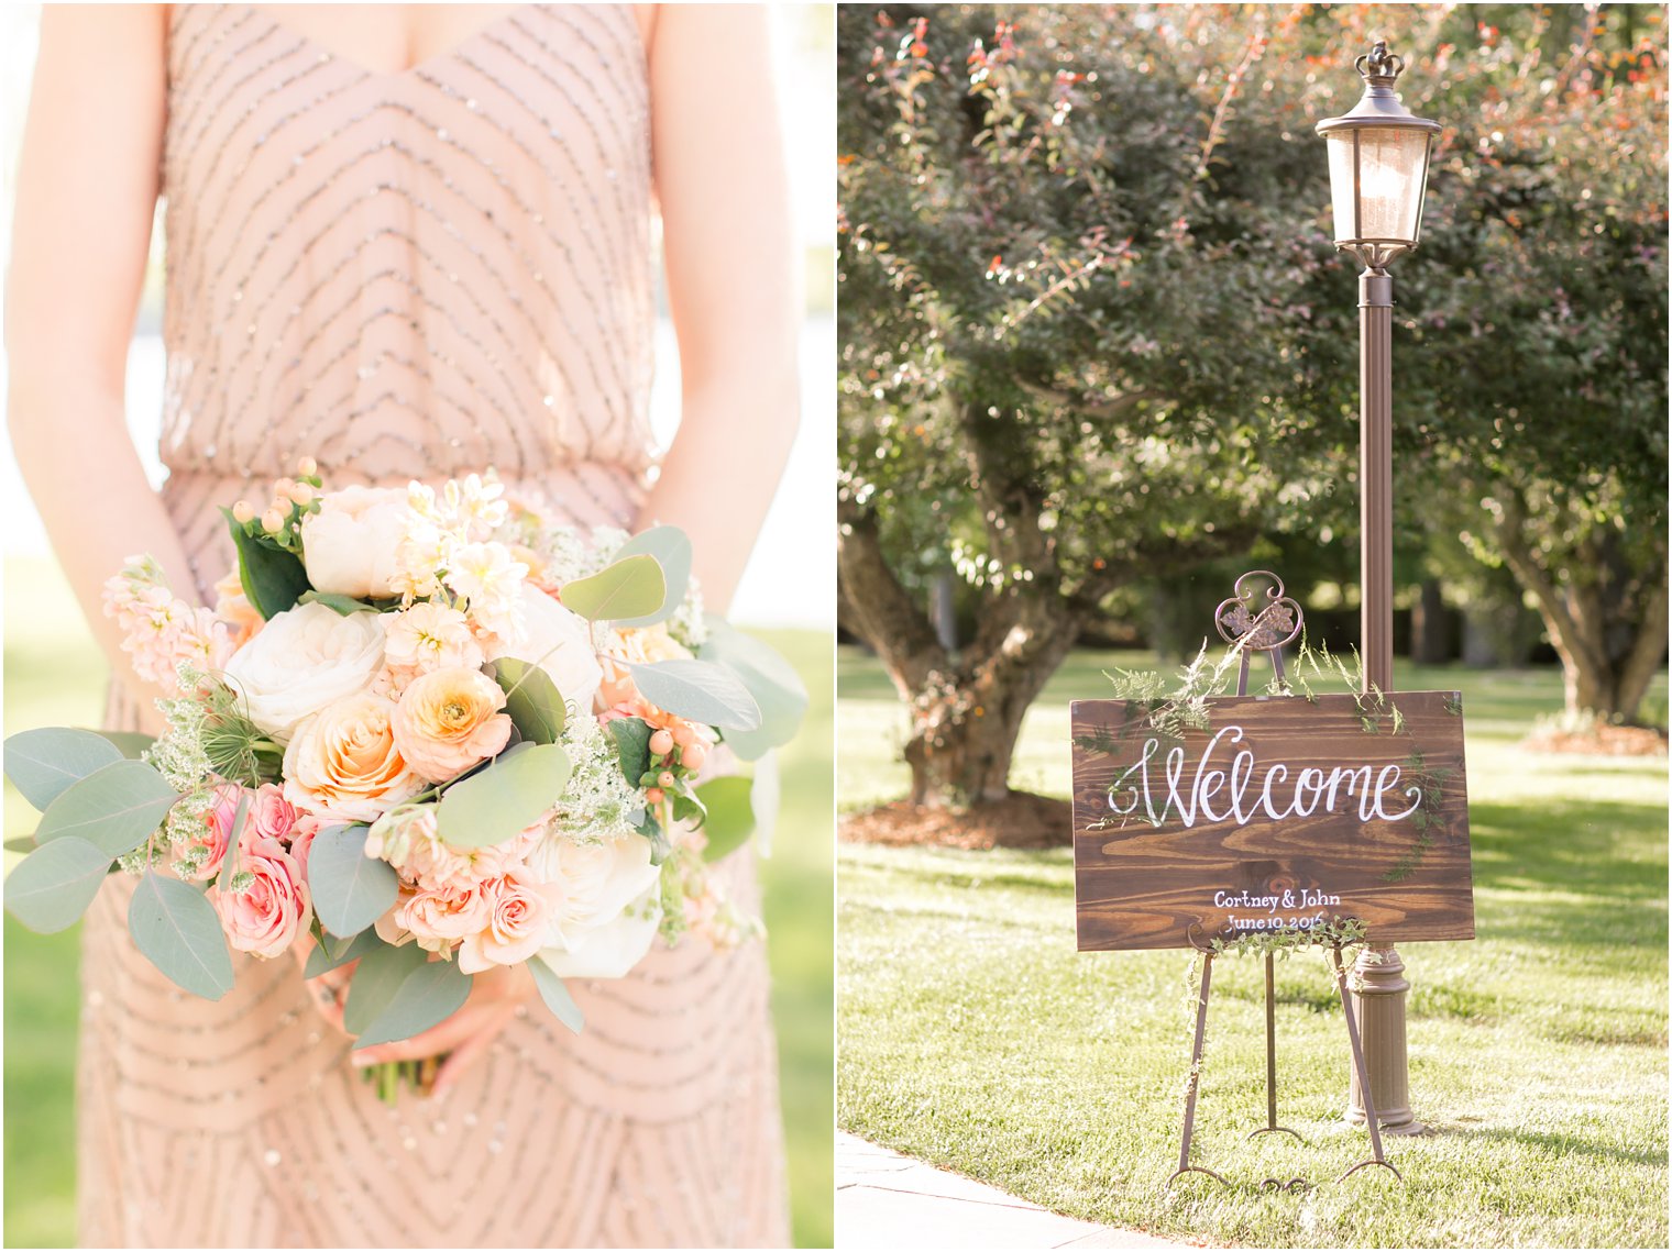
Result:
M127 674L104 580L149 552L197 602L124 416L157 202L166 5L45 5L5 293L7 413L23 480L94 637Z

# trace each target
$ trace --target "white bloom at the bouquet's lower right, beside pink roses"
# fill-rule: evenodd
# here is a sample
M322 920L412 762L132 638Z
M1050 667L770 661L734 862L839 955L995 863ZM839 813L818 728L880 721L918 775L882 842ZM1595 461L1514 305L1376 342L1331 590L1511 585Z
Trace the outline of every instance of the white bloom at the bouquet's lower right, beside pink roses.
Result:
M548 836L528 854L528 868L563 891L550 944L540 951L552 973L622 978L650 951L662 923L662 871L650 864L649 839L627 834L575 842Z

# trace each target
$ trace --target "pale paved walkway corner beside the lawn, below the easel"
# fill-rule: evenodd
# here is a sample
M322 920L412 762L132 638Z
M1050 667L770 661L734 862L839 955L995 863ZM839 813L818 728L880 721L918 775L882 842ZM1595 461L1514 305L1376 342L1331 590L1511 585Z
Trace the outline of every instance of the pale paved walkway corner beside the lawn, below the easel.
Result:
M1062 1217L911 1157L836 1135L838 1249L1187 1247Z

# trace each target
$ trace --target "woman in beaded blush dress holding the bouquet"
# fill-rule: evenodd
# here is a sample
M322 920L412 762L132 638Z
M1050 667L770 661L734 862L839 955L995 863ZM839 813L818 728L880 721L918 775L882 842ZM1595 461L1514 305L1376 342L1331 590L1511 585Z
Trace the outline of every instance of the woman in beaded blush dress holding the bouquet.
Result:
M682 525L724 608L796 423L794 284L759 8L48 5L7 293L18 463L94 634L150 552L231 565L216 506L314 456L328 486L493 466L579 523ZM124 361L166 204L167 383L147 488ZM645 420L662 232L682 423ZM154 725L117 685L110 724ZM724 864L756 903L749 852ZM386 1108L291 959L219 1003L85 923L80 1242L527 1247L788 1242L761 944L527 975L376 1058L450 1051ZM323 996L331 1000L329 991ZM364 1060L364 1056L361 1058Z

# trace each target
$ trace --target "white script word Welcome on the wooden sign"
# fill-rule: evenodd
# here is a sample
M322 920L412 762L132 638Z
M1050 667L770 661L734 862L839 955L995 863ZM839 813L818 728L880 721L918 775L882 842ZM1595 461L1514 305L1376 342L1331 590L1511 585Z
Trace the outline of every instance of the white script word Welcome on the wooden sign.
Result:
M1256 761L1252 749L1237 751L1229 767L1217 767L1214 754L1221 744L1227 749L1242 742L1242 727L1227 725L1216 734L1200 756L1187 759L1184 746L1175 746L1152 769L1160 752L1159 739L1147 739L1139 759L1127 766L1109 784L1109 807L1117 817L1130 817L1142 811L1152 826L1162 826L1169 814L1185 829L1195 826L1197 816L1207 822L1247 826L1264 814L1271 821L1284 817L1311 817L1318 812L1351 812L1358 804L1358 819L1399 822L1423 804L1418 786L1401 787L1399 766L1334 766L1318 769L1308 766L1294 774L1282 762L1266 769L1264 779L1254 787ZM1159 774L1159 777L1157 777ZM1221 799L1222 797L1222 799ZM1404 799L1409 804L1398 812L1393 804ZM1159 802L1157 802L1159 801ZM1216 807L1217 802L1217 807ZM1339 807L1338 807L1339 806Z

